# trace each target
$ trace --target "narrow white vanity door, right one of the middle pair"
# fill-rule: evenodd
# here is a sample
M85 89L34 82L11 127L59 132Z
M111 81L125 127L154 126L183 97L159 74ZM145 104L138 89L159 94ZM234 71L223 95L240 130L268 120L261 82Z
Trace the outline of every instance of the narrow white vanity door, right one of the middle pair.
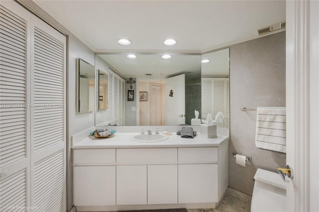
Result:
M148 204L177 203L177 165L148 165Z

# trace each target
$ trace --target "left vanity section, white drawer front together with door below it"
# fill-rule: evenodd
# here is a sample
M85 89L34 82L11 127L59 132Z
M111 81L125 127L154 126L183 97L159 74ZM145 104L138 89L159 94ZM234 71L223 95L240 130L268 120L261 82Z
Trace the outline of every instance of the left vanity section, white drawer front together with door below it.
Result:
M115 149L75 149L74 205L116 205Z

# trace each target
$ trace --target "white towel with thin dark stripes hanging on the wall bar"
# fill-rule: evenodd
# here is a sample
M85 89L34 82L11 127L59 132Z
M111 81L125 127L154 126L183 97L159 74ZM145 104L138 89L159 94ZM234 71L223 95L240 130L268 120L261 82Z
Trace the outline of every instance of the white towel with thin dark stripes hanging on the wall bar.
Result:
M286 107L258 107L256 147L286 153Z

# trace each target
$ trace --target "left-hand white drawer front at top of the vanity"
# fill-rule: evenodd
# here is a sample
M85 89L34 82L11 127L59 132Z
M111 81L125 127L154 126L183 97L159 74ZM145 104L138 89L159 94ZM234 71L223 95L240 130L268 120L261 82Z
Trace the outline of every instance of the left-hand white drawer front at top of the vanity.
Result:
M74 163L115 163L115 149L75 149Z

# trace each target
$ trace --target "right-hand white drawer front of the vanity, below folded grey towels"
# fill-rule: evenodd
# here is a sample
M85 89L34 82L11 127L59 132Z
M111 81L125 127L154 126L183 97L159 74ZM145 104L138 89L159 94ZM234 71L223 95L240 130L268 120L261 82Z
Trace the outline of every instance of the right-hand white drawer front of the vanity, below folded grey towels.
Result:
M217 163L218 147L178 148L178 162Z

